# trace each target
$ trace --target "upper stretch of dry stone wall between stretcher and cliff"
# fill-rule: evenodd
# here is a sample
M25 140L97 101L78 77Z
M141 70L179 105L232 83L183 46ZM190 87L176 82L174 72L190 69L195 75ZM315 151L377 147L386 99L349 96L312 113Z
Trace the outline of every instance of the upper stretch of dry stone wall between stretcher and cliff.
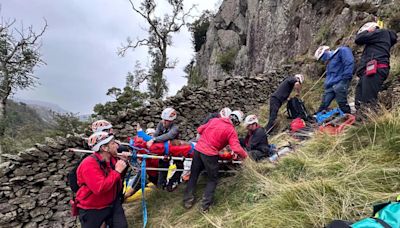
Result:
M196 136L196 128L202 120L223 107L240 109L245 114L257 112L261 105L268 102L269 95L285 76L286 71L260 77L235 76L215 81L215 89L184 87L176 96L165 101L153 101L145 107L119 112L117 116L107 119L113 123L118 138L126 140L135 135L136 123L143 128L155 127L162 110L173 107L178 112L180 138L190 140Z

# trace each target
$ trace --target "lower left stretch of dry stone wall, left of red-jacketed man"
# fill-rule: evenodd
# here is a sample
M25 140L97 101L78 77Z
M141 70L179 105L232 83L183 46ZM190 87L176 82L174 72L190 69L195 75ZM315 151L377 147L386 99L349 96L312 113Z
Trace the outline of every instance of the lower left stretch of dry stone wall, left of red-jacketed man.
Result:
M82 146L78 136L46 138L18 155L2 155L0 227L75 226L66 176L79 158L65 149Z

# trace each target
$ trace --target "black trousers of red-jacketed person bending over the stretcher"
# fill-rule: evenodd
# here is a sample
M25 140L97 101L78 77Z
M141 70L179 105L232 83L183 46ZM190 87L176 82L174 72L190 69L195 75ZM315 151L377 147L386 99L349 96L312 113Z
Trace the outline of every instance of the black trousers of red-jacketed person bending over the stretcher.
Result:
M197 181L203 169L207 171L208 181L201 206L208 208L214 202L214 193L218 183L218 156L207 156L197 150L194 151L192 167L190 168L190 179L187 183L183 201L194 200Z

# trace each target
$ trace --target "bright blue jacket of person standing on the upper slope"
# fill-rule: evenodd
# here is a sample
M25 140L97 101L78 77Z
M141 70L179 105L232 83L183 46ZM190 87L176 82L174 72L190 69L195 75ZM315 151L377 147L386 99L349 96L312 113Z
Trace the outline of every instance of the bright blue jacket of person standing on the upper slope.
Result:
M349 47L339 47L326 66L325 88L330 88L342 80L353 77L354 57Z

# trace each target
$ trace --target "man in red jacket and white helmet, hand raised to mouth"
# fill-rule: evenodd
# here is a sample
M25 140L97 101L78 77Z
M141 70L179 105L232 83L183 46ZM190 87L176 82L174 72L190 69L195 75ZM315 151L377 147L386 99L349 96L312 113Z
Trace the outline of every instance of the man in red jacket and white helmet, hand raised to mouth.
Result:
M107 132L96 132L88 139L94 154L77 169L79 190L76 202L83 228L100 227L103 222L114 228L128 227L121 193L127 164L117 160L118 143Z

